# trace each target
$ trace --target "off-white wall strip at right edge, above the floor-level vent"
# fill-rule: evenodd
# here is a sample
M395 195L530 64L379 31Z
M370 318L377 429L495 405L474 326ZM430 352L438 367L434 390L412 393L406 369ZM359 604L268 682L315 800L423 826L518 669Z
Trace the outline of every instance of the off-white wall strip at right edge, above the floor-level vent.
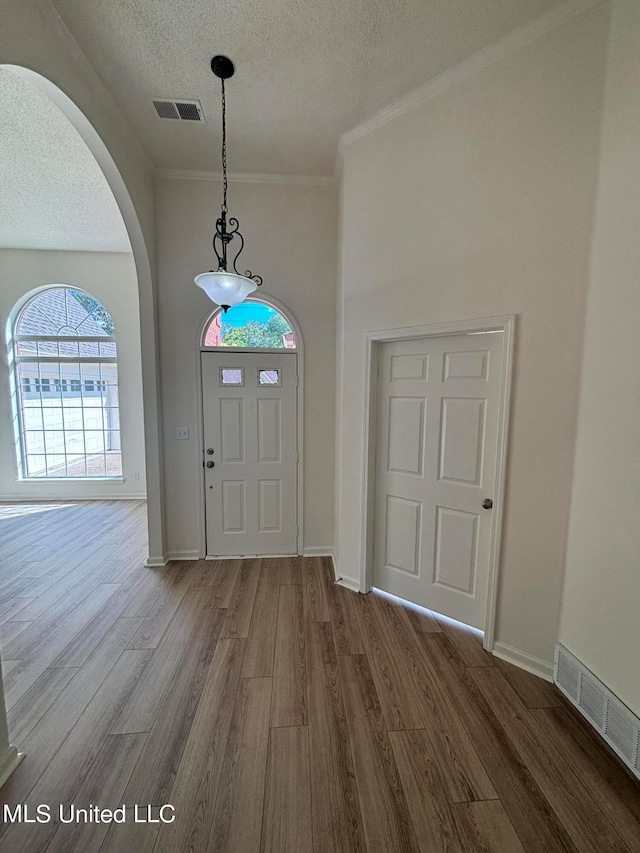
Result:
M560 642L640 715L640 5L613 6Z

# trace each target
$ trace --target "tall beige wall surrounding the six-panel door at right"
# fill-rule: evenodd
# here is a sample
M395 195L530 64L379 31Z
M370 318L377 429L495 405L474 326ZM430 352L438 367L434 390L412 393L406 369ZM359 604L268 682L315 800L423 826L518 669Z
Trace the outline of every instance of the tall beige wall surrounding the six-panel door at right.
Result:
M608 7L411 107L344 151L338 572L362 563L364 334L517 314L496 639L557 637Z

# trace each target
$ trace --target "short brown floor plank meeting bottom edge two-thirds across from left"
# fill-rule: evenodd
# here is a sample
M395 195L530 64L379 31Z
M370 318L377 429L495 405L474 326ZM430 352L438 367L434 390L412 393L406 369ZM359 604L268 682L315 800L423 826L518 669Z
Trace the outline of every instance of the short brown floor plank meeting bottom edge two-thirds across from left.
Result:
M389 732L389 739L420 850L464 850L458 816L427 733Z

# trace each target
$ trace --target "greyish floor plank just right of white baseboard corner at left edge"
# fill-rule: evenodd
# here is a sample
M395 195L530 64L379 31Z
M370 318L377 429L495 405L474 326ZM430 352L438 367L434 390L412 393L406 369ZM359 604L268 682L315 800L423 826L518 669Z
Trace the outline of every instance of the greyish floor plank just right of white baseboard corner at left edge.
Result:
M19 743L26 758L0 794L7 802L23 802L55 755L61 743L111 672L140 620L120 619L79 672L71 679L42 719Z

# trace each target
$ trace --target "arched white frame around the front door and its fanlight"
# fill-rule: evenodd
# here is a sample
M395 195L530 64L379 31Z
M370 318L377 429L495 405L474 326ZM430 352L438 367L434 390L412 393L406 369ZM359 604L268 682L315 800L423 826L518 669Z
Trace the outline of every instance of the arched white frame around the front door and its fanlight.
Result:
M291 329L295 333L296 336L296 349L289 350L288 352L291 356L295 355L297 358L297 375L298 375L298 384L296 387L296 440L297 440L297 452L298 458L296 461L296 488L297 488L297 496L296 496L296 525L297 525L297 535L296 535L296 549L298 554L302 554L303 543L304 543L304 342L302 339L302 331L298 324L296 318L291 314L289 309L283 305L277 299L274 299L272 296L249 296L244 300L245 302L260 302L264 305L268 305L271 308L275 308L282 316L285 318L287 323L289 323ZM209 559L215 560L216 557L207 557L207 534L206 534L206 524L205 524L205 511L206 511L206 484L205 484L205 471L204 471L204 458L205 458L205 447L204 447L204 388L202 387L202 353L203 352L221 352L231 354L234 352L237 353L286 353L285 349L271 349L269 347L205 347L202 345L202 339L205 333L207 326L215 314L215 309L213 311L209 311L207 316L204 318L202 323L200 324L200 328L198 330L198 338L196 341L196 350L195 350L195 360L196 360L196 380L198 382L198 393L196 394L197 398L197 419L196 423L198 425L197 433L198 433L198 460L200 465L200 488L197 490L197 504L196 504L196 512L198 516L198 551L199 551L199 559ZM201 464L202 463L202 464ZM268 555L272 556L272 555ZM235 557L225 557L225 560L234 560ZM244 559L243 557L239 557L238 559Z

